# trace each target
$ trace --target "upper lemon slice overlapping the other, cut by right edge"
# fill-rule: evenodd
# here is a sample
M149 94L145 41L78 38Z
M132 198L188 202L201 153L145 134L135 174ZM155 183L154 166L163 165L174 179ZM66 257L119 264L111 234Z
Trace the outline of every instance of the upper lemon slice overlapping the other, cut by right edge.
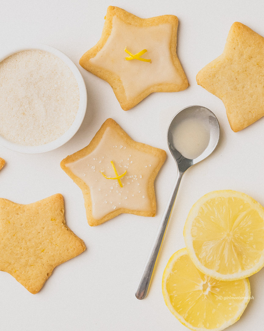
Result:
M204 195L192 206L183 236L195 266L215 279L242 279L264 265L264 208L244 193Z

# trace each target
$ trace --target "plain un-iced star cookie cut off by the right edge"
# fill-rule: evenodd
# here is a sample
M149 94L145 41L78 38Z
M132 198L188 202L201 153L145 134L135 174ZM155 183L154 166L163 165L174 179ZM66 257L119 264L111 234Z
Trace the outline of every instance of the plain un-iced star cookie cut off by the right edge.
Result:
M196 80L223 101L233 131L254 123L264 116L264 38L235 22L222 55L199 71Z

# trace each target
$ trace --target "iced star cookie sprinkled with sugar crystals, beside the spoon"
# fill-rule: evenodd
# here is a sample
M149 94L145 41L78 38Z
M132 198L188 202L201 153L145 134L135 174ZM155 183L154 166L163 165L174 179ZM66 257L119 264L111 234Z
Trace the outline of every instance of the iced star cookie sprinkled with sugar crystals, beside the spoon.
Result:
M155 177L166 152L132 140L108 118L90 144L61 161L82 189L89 225L121 213L155 216Z

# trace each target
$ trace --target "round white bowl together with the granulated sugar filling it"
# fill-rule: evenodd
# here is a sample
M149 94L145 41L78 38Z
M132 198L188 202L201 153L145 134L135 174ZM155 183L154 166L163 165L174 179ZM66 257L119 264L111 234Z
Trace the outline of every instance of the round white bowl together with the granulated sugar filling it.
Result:
M22 153L60 147L86 112L82 75L47 45L23 47L0 58L0 143Z

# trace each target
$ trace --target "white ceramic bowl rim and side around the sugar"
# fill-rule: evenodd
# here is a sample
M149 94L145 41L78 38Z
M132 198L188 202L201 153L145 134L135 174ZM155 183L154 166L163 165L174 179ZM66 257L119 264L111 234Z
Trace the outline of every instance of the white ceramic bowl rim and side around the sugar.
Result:
M42 51L49 52L51 54L54 54L58 58L60 58L66 65L70 68L72 73L74 74L74 77L77 80L79 92L80 92L80 102L79 102L79 109L77 112L77 115L74 119L74 122L69 127L69 129L59 138L56 140L53 140L47 144L39 145L39 146L27 146L27 145L19 145L16 143L13 143L10 140L5 139L3 136L0 135L0 144L4 147L7 147L13 151L20 152L20 153L27 153L27 154L38 154L38 153L45 153L52 151L62 145L64 145L67 141L69 141L75 133L80 128L85 112L87 107L87 91L86 86L84 83L84 80L82 78L81 72L76 67L76 65L61 51L57 50L54 47L44 45L44 44L29 44L29 45L23 45L20 47L8 49L4 54L1 51L0 53L0 62L2 62L4 59L9 57L12 54L15 54L17 52L25 51L28 49L40 49Z

